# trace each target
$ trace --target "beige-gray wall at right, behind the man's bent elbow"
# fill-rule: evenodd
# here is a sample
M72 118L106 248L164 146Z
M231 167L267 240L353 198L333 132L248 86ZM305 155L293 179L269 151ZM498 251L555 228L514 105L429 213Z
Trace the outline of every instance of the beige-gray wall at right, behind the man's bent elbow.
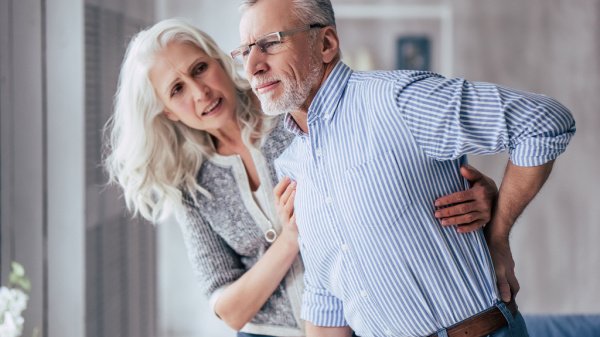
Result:
M600 2L453 4L456 75L555 97L577 122L575 138L512 236L520 306L526 312L598 313ZM505 158L472 163L499 181Z

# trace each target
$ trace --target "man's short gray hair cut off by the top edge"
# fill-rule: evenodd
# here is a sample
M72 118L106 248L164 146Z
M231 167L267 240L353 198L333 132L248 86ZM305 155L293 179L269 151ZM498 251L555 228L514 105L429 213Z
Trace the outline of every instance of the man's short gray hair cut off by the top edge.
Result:
M254 6L259 0L242 0L240 10ZM292 0L294 16L303 24L320 23L335 27L335 15L330 0Z

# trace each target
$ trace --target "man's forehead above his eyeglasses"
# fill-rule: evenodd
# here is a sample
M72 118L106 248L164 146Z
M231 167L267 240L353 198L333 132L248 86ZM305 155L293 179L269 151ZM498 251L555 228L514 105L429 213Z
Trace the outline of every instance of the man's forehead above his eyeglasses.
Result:
M240 42L248 44L269 33L289 30L300 24L288 0L261 0L247 8L240 20Z

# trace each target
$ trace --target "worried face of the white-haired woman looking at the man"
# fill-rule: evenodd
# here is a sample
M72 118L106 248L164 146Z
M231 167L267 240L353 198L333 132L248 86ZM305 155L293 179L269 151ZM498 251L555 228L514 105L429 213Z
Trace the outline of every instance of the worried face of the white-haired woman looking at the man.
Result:
M191 43L171 42L156 55L150 81L172 121L209 133L235 121L235 85L221 64Z

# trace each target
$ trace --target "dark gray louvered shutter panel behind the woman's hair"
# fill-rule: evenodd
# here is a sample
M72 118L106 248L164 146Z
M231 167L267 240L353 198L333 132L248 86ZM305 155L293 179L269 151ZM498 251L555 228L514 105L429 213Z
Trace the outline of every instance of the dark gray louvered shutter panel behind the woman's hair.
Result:
M106 186L103 127L112 114L127 42L154 21L152 3L85 4L86 337L157 335L156 231ZM82 27L83 28L83 27Z

